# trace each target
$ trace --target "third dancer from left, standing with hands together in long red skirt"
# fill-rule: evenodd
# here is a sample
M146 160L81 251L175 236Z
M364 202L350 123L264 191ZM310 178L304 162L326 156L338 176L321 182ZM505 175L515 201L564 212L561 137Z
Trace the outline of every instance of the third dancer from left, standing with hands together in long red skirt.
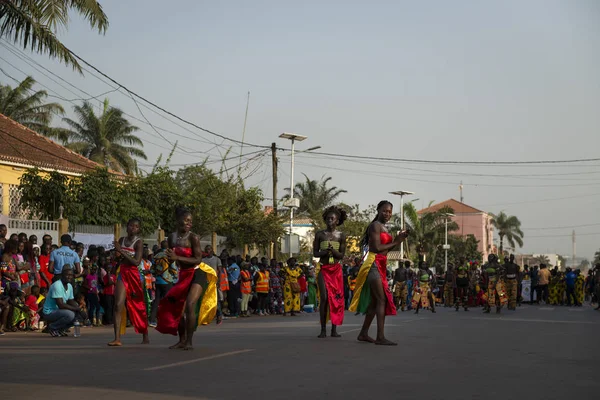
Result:
M331 337L341 337L337 326L344 322L344 274L340 261L346 252L346 235L337 230L346 220L346 211L331 206L323 212L327 229L317 232L313 243L313 256L319 258L317 283L319 285L319 316L321 333L327 337L327 316L331 317Z

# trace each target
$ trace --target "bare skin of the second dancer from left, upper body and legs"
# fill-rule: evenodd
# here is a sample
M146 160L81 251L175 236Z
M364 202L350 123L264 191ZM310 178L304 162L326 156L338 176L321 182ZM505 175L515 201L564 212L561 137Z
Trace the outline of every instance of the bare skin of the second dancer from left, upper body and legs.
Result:
M196 265L202 262L202 249L200 246L200 238L192 229L192 215L184 214L177 220L177 231L173 232L168 239L169 248L166 250L167 257L171 262L176 262L180 269L195 268ZM187 247L192 249L191 257L183 257L175 254L175 247ZM179 320L179 341L170 349L193 350L192 338L194 331L198 325L196 320L196 304L202 296L202 286L197 283L192 283L190 291L185 300L184 313Z

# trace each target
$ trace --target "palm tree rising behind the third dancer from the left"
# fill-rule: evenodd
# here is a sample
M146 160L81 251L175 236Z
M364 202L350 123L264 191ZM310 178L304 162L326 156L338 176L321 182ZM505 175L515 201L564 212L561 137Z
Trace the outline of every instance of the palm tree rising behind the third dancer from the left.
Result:
M310 179L306 174L305 181L299 182L294 187L294 197L300 199L300 207L297 210L298 215L304 215L311 219L315 228L322 227L323 221L321 214L323 210L331 206L335 200L347 190L338 189L337 186L327 187L331 177L321 177L320 181ZM290 188L285 189L288 193ZM290 195L284 198L288 199Z

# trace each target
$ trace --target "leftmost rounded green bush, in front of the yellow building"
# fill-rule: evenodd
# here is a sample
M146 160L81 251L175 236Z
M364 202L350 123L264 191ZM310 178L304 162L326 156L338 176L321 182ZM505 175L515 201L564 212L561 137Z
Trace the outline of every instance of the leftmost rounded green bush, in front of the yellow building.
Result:
M41 174L37 168L29 169L21 176L19 189L21 207L41 219L58 219L59 207L69 203L67 178L56 171Z

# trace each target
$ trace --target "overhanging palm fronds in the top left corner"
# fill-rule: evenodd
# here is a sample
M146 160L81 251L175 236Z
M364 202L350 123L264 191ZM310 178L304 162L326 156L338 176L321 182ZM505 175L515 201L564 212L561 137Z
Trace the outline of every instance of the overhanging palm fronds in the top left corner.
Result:
M67 29L69 14L81 15L99 33L108 28L108 17L95 0L3 0L0 37L23 48L47 53L81 72L77 58L56 37L60 29Z

